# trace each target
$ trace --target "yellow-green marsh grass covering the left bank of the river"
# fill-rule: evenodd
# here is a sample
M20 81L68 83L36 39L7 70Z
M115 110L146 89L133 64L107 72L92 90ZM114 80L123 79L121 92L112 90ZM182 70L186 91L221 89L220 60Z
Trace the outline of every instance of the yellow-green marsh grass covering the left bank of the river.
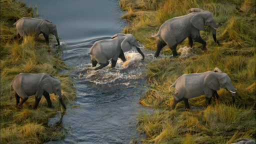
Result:
M22 42L17 41L17 31L13 23L23 17L33 17L34 9L15 0L1 0L0 20L0 143L43 143L62 136L65 132L56 126L47 126L48 119L62 111L58 98L50 94L55 108L47 108L47 101L42 98L36 110L32 109L34 96L28 98L22 109L15 108L15 98L9 99L11 80L20 72L47 72L61 81L61 92L65 103L75 98L73 83L68 74L59 74L58 70L66 68L63 61L54 53L52 47L45 45L42 36L25 36ZM37 13L38 15L38 13ZM11 91L14 97L13 90Z

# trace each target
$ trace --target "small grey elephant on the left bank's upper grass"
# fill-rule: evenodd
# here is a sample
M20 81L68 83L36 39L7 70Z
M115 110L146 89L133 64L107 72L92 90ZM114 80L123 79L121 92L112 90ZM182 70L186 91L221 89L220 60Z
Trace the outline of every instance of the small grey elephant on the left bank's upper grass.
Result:
M22 17L18 19L13 25L17 28L17 37L34 34L37 37L39 34L43 34L46 44L49 44L49 34L53 34L56 37L57 43L59 45L57 28L54 23L47 19L37 19L31 17Z

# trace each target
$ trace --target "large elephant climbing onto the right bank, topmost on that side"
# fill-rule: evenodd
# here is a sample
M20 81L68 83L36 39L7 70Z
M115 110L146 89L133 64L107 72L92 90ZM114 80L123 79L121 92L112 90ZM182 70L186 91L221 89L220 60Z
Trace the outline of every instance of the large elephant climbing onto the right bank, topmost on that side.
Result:
M188 37L188 43L190 47L193 45L193 41L203 44L203 50L206 49L206 42L200 36L200 30L204 30L204 25L212 28L212 36L216 43L216 30L217 25L209 11L199 8L190 8L189 14L171 18L165 21L159 28L157 34L152 37L157 38L157 50L154 54L158 57L162 47L168 45L172 50L173 56L177 56L176 46L181 43L186 37Z

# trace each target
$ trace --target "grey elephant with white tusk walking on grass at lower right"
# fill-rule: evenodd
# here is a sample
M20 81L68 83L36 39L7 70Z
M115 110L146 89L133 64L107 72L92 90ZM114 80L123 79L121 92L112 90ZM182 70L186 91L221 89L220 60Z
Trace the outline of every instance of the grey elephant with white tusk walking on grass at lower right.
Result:
M171 91L171 87L175 87L175 92ZM172 109L175 108L177 102L182 100L185 102L186 108L189 108L188 99L203 94L205 94L207 106L210 104L212 95L220 87L229 90L232 93L232 102L235 102L236 89L226 73L206 71L203 73L183 74L169 87L170 92L174 95Z

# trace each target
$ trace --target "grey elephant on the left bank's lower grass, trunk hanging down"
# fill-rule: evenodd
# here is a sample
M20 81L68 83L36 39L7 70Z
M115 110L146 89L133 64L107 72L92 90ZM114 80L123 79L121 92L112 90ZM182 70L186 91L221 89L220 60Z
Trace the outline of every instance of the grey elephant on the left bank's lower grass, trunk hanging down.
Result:
M42 97L45 97L48 107L54 108L50 101L49 93L58 95L59 102L66 109L61 95L61 82L52 75L47 73L19 73L16 75L10 84L10 99L11 86L13 87L16 97L16 107L22 107L22 104L28 99L28 96L35 95L33 108L37 108ZM19 99L21 101L19 102Z

